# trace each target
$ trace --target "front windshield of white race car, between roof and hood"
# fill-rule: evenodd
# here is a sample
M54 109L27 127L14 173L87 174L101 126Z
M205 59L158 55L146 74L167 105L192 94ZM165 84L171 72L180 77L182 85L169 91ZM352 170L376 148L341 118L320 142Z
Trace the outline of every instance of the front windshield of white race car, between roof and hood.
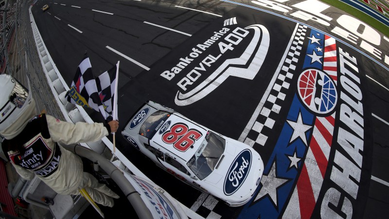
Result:
M210 175L224 152L226 140L221 136L208 131L204 141L188 161L188 167L198 179L203 180Z

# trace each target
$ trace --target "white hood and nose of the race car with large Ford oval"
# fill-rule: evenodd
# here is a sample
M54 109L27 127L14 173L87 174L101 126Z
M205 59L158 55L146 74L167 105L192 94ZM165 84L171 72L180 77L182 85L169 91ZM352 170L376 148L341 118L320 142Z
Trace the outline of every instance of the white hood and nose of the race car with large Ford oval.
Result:
M225 201L239 203L254 194L263 170L264 164L258 152L241 142L227 140L217 169L203 182L207 190L216 190Z

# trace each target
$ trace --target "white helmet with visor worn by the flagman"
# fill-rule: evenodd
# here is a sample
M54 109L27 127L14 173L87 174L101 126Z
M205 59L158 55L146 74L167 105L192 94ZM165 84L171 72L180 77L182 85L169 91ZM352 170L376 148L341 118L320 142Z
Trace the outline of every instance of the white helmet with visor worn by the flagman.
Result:
M31 93L8 74L0 74L0 93L0 135L12 139L36 115L35 101Z

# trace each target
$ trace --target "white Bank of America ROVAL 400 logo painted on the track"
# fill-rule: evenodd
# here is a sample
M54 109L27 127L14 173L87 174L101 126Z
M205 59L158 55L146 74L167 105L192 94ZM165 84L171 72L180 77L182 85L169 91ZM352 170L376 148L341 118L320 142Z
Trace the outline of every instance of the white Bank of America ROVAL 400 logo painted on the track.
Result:
M252 34L249 35L250 32ZM198 60L198 65L187 71L189 73L180 75L183 78L177 83L177 86L181 91L177 91L175 97L175 103L178 106L186 106L202 99L221 85L229 76L252 80L262 67L270 41L269 32L265 26L255 24L244 29L236 27L232 31L224 27L214 33L210 39L192 48L188 56L180 58L177 65L171 70L166 70L160 74L170 81L176 75L179 75L186 66L194 62L196 57L201 54L204 56L209 47L219 47L220 54L207 55L204 59ZM248 37L252 38L247 39ZM226 52L239 47L243 40L250 40L250 42L240 57L225 59L216 70L211 70L211 68L214 69L213 63L219 59L221 60ZM204 78L204 74L207 74L208 77ZM200 78L203 81L198 86L192 87Z

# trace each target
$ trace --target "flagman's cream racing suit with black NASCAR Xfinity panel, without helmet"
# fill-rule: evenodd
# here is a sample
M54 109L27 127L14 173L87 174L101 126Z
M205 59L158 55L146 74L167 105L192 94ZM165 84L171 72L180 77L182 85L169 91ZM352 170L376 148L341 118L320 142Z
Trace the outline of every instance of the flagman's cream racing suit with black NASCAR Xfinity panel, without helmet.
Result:
M55 192L79 195L85 188L97 203L112 207L112 198L119 198L105 184L100 184L91 174L83 172L81 159L58 143L71 145L95 142L108 135L101 123L68 123L50 115L35 116L8 144L23 144L23 153L8 151L11 163L18 174L31 180L36 175Z

